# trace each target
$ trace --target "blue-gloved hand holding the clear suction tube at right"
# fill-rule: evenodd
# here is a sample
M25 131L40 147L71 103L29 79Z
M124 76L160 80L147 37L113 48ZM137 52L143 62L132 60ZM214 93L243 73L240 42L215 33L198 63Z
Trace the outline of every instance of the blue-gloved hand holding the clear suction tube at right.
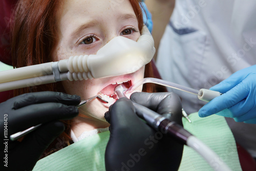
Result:
M217 114L237 122L256 123L256 65L240 70L210 90L223 95L199 110L200 117Z

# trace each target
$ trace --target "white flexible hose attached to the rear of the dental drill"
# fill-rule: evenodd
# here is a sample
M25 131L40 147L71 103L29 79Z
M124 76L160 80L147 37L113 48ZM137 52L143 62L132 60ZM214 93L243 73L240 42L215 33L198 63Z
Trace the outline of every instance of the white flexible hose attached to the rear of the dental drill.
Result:
M206 146L195 136L188 137L187 145L193 148L197 153L199 153L214 170L231 171L226 163L214 151L212 151L208 146Z

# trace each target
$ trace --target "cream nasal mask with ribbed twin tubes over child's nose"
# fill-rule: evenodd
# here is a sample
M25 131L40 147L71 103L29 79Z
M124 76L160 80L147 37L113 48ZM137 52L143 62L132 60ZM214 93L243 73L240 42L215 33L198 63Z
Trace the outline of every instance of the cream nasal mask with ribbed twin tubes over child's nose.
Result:
M144 26L137 41L117 36L96 55L71 56L58 62L0 72L0 92L63 80L83 80L133 73L155 54L154 39Z

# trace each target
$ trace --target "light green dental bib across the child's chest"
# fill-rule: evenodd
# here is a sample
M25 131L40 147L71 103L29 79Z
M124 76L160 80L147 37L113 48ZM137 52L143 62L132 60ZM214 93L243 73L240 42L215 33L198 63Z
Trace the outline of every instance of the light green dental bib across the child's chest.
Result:
M200 118L194 113L189 118L192 123L185 118L182 120L186 130L215 151L231 170L242 170L236 142L224 117ZM105 170L104 154L109 137L108 131L80 140L39 160L33 170ZM214 169L194 149L185 145L179 170Z

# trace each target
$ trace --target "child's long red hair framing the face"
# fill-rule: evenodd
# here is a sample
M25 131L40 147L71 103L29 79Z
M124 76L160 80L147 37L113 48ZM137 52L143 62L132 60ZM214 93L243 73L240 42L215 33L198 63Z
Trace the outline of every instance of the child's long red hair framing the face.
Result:
M129 0L138 19L139 30L143 26L143 15L139 0ZM58 43L56 13L62 7L62 0L19 0L12 30L13 66L25 67L50 62L52 51ZM151 63L145 68L145 77L154 77ZM14 95L39 91L63 91L61 83L44 84L37 87L18 89ZM143 91L154 92L152 84L146 84ZM63 121L64 122L64 121ZM58 141L69 141L71 121L65 121L66 130L49 146L56 147ZM58 149L57 149L58 150Z

